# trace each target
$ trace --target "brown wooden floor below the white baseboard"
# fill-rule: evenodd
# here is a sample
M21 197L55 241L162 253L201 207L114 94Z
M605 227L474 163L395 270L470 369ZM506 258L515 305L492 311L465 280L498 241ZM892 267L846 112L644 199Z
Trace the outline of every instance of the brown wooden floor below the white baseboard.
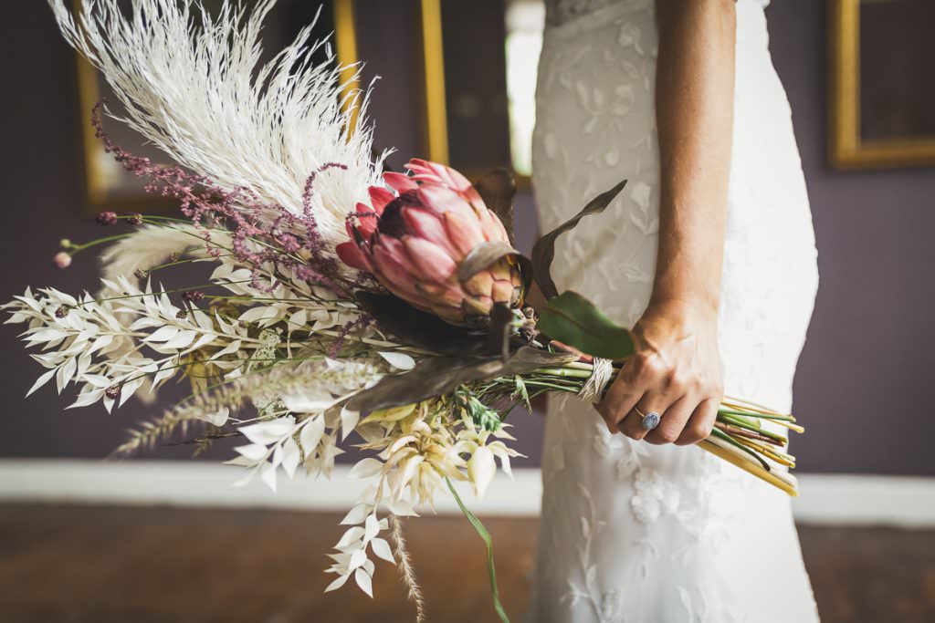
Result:
M411 607L388 564L378 568L374 601L355 589L322 593L338 518L0 505L0 621L409 623ZM536 522L485 523L504 604L519 620ZM408 526L429 620L495 621L481 543L468 524L423 517ZM799 533L825 623L935 621L935 531Z

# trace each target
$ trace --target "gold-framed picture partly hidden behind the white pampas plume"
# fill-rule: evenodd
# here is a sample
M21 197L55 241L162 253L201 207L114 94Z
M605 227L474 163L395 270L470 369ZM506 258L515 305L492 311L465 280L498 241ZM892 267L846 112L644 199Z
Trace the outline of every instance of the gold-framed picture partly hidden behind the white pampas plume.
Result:
M228 0L204 0L203 5L210 11L223 6ZM249 6L255 0L248 0ZM81 0L74 0L76 10ZM130 3L126 3L129 7ZM353 31L346 28L338 32L336 9L347 3L334 0L324 3L319 14L319 3L307 0L280 0L270 12L264 27L264 50L266 58L281 50L298 35L299 31L315 20L318 14L318 27L313 38L321 38L334 27L336 32L333 46L340 57L352 55ZM350 48L349 48L350 46ZM127 173L120 163L104 151L101 141L94 135L91 125L91 111L101 101L107 101L108 107L117 115L121 112L120 102L113 95L107 82L94 66L76 54L78 85L78 119L80 123L80 149L83 168L84 205L93 213L102 210L118 212L136 212L170 210L177 207L175 202L144 191L144 182L139 177ZM105 131L111 139L123 149L140 156L147 156L153 163L169 164L165 154L147 144L144 138L122 123L104 118Z

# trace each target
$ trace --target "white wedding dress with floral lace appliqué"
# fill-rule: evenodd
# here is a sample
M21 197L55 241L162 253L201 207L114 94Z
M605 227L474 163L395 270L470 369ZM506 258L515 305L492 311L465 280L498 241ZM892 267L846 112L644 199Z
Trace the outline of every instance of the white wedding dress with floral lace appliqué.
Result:
M817 288L812 219L765 1L737 3L737 70L719 316L726 393L787 410ZM543 231L622 178L560 241L559 290L632 325L652 289L659 167L652 0L552 0L539 61L534 188ZM553 400L528 620L818 620L789 499L695 447L611 435Z

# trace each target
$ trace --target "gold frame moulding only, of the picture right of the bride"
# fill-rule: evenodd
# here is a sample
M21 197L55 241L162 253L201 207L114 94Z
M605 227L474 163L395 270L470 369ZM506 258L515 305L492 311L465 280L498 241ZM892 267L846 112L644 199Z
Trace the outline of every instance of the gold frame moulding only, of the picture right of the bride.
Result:
M860 5L861 0L828 3L829 159L840 169L933 165L935 135L873 140L861 136Z

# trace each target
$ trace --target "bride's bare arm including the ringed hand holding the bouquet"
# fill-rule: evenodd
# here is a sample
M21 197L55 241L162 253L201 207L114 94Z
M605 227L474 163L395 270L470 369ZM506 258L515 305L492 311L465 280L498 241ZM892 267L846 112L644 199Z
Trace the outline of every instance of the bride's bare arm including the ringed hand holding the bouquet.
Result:
M722 397L717 306L733 135L734 0L659 0L659 249L628 360L597 410L654 444L711 433ZM653 432L634 407L661 415Z

